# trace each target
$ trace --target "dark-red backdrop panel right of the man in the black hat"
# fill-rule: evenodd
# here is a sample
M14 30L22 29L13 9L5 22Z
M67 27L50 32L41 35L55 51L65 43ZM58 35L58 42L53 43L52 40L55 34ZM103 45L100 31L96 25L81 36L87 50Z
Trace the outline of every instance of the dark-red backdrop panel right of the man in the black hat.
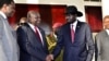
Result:
M101 7L86 7L86 20L90 25L93 32L100 32L102 29L102 14Z

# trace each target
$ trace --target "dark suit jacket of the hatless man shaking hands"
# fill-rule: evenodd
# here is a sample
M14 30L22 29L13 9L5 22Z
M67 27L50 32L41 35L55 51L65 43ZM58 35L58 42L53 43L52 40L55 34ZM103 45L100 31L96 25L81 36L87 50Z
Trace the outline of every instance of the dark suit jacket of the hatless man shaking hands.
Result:
M20 45L20 61L45 61L48 48L44 30L39 28L44 45L36 37L28 24L17 28L17 42Z

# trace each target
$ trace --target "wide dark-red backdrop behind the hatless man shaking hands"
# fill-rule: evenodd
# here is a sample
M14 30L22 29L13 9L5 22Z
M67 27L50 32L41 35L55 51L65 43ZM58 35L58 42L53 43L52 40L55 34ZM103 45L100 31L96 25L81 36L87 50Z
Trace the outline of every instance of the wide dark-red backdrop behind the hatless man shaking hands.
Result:
M26 16L27 11L37 10L40 13L41 21L52 26L53 23L65 23L64 16L65 5L60 4L21 4L15 7L15 14L10 17L10 24L15 24L22 16Z

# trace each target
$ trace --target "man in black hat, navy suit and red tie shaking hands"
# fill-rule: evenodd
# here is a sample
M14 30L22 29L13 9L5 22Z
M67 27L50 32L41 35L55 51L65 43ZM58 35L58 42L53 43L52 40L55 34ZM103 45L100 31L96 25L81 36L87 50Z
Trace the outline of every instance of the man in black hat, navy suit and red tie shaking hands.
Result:
M70 5L66 7L65 15L68 23L58 32L58 42L51 59L57 58L63 48L63 61L92 61L95 48L90 28L88 24L76 19L83 13L76 7Z

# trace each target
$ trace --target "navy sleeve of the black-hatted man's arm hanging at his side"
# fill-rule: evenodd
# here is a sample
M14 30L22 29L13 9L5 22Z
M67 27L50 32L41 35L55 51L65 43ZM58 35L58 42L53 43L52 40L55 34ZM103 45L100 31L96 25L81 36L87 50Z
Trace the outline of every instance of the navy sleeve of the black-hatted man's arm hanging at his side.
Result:
M94 54L94 50L95 50L95 45L94 45L94 40L93 40L90 28L89 28L88 25L86 25L86 44L87 44L87 50L88 50L88 54L87 54L86 61L92 61L93 54Z

